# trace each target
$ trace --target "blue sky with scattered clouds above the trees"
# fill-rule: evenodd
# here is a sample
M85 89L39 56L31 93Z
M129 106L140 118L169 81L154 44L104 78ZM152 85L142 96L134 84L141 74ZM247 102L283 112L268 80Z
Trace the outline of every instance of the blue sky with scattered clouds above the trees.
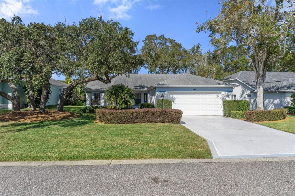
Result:
M0 0L0 17L9 19L13 14L22 17L25 24L44 22L55 24L67 21L78 22L89 16L104 20L112 18L135 32L134 40L142 40L149 34L170 37L185 48L201 44L203 52L208 51L208 34L196 33L196 22L203 23L215 17L219 11L218 1L140 1L140 0L89 0L89 1L33 1ZM206 13L208 11L208 13ZM148 73L142 69L140 73ZM63 76L53 76L64 79Z

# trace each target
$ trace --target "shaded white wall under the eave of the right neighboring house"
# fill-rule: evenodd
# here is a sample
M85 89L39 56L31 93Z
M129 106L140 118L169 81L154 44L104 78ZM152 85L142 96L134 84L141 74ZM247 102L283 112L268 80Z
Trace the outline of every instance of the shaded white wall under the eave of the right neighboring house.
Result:
M273 110L284 106L291 106L292 92L264 92L263 103L265 110ZM250 109L256 110L257 93L253 92L250 99Z

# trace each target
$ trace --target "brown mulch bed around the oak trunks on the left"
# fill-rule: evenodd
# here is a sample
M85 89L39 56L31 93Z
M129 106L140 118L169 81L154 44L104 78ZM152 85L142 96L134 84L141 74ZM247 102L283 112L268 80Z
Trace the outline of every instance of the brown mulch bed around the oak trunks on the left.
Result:
M39 122L48 120L61 120L79 117L73 112L60 112L56 110L39 113L38 111L7 112L0 114L0 122Z

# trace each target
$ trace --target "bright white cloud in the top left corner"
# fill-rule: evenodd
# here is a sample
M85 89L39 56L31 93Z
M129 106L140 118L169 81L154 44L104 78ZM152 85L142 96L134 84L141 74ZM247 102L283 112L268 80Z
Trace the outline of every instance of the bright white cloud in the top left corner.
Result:
M29 0L4 0L0 4L0 18L9 19L15 15L32 15L39 14L29 4Z

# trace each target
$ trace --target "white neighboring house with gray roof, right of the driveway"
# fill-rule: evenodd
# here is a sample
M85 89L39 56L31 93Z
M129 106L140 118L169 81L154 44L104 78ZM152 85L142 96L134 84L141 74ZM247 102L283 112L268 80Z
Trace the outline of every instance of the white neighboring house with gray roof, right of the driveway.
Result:
M233 90L233 99L249 100L250 109L256 109L256 82L254 72L240 71L224 77L224 81L238 84ZM264 109L272 110L291 104L291 94L295 92L295 73L293 72L266 72L264 82Z

